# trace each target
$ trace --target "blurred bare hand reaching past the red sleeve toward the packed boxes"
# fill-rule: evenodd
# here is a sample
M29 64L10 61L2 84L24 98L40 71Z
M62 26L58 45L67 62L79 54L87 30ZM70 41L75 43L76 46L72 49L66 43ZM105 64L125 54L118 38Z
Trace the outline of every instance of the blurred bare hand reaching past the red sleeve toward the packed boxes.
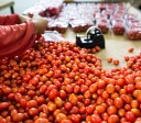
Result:
M43 34L47 26L47 19L40 15L34 15L32 22L35 25L35 34Z

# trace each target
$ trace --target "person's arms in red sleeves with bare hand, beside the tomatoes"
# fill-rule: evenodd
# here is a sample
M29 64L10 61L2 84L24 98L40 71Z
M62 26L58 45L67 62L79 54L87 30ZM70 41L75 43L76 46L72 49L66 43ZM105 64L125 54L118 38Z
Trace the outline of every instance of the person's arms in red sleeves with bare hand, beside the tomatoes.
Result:
M47 20L40 15L0 15L0 58L22 55L35 43L35 35L44 33Z

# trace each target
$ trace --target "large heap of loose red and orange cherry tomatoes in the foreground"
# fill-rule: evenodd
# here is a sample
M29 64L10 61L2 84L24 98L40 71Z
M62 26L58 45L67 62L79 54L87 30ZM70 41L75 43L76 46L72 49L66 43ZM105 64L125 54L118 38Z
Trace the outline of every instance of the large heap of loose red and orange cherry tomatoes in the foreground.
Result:
M41 37L0 59L0 123L140 123L141 54L107 70L99 51Z

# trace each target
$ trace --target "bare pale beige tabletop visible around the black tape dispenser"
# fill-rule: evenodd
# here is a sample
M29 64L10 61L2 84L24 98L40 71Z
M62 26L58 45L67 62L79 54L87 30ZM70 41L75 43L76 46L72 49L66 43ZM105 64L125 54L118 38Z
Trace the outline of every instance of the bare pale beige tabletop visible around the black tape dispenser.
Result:
M129 13L137 13L141 18L141 13L130 4L127 4ZM79 33L85 35L85 33ZM68 29L65 33L65 38L70 42L76 41L76 33L72 29ZM126 66L124 56L139 55L141 53L141 40L140 41L130 41L127 35L115 35L110 30L108 34L104 34L106 48L101 49L99 53L96 53L96 56L100 57L102 60L102 68L111 69L115 67ZM129 53L129 47L133 47L134 51ZM113 63L108 63L107 58L112 57L113 59L119 59L119 65L113 65Z

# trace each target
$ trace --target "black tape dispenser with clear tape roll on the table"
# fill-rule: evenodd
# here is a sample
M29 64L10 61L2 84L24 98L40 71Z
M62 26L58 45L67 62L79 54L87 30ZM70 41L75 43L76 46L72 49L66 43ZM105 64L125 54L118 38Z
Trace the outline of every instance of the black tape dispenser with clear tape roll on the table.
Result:
M87 37L76 35L76 44L79 47L84 48L93 48L95 46L99 46L100 48L105 48L105 38L101 31L91 26L86 32Z

